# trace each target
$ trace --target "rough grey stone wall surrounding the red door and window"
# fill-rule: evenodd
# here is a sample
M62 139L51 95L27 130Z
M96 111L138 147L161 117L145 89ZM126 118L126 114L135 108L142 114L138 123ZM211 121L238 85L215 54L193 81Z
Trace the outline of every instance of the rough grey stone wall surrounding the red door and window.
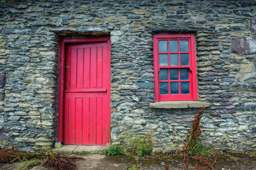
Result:
M150 131L154 151L180 147L197 109L153 110L153 34L196 37L204 144L256 147L256 2L0 0L0 143L56 141L60 36L111 37L111 138Z

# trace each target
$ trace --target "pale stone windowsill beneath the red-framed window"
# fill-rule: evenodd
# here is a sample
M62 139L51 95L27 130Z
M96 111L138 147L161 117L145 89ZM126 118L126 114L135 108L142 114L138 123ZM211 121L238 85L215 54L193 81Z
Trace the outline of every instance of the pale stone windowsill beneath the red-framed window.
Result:
M179 108L203 108L209 107L207 102L199 101L170 101L170 102L154 102L149 103L149 107L152 109L179 109Z

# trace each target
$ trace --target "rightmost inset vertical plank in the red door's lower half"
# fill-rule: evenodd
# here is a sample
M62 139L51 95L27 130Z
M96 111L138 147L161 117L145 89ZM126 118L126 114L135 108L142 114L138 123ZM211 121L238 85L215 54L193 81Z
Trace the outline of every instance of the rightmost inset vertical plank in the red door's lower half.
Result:
M97 125L96 125L96 137L97 137L97 140L96 140L96 144L98 145L102 145L102 97L97 97L96 98L96 102L97 102L97 108L96 108L96 112L97 112Z

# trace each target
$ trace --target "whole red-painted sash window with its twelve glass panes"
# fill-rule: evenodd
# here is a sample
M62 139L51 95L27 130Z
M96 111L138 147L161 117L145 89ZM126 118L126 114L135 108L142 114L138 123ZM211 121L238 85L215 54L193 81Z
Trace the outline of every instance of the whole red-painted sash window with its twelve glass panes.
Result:
M196 80L194 35L154 35L155 100L197 100Z

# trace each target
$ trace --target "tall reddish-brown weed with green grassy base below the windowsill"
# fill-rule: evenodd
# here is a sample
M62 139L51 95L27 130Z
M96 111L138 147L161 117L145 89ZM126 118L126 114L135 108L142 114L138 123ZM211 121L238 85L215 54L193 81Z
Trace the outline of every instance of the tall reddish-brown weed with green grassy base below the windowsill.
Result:
M190 127L190 135L186 136L185 141L183 142L183 151L181 154L183 155L183 162L184 162L184 170L189 170L188 167L188 158L189 155L192 159L199 160L201 164L204 164L205 167L199 167L198 162L195 163L195 169L196 170L213 170L213 165L218 159L218 154L215 153L214 148L210 148L209 146L206 147L199 143L199 135L201 134L201 125L200 120L202 118L202 115L204 113L204 109L202 108L201 111L198 111L198 114L195 114L195 119L191 121L191 127ZM214 161L211 163L209 161L209 156L214 155Z

